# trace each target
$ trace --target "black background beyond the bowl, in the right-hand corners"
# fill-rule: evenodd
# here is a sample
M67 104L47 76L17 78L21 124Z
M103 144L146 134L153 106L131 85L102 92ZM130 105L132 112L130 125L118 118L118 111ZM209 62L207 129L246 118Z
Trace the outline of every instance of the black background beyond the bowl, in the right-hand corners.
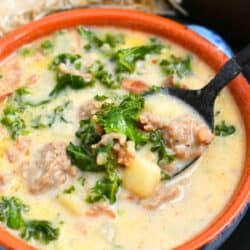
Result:
M183 0L189 16L173 18L204 25L221 35L237 52L250 43L250 0ZM250 65L245 72L250 82ZM250 250L250 207L244 219L220 250Z

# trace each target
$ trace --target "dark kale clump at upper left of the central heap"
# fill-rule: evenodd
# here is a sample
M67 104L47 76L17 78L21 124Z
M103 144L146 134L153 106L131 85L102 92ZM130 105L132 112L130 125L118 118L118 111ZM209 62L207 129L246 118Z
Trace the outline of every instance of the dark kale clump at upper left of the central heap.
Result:
M76 132L76 136L84 145L92 145L97 143L101 136L96 132L95 123L91 119L80 121L80 128Z

